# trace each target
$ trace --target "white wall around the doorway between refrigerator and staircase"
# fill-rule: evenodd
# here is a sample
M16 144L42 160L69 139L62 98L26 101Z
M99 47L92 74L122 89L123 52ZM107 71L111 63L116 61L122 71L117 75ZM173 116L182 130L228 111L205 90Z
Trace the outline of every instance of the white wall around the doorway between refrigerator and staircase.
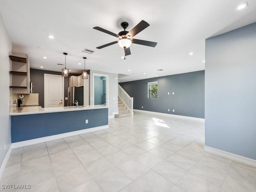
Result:
M90 70L90 104L93 98L93 74L108 75L108 116L118 111L118 74ZM114 78L116 77L116 79Z

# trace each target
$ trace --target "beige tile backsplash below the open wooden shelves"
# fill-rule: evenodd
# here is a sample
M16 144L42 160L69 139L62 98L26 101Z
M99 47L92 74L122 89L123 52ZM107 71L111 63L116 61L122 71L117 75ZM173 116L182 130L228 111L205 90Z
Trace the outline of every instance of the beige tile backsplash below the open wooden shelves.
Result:
M31 94L22 94L24 95L24 102L22 102L22 105L38 105L38 93L31 93ZM20 94L11 93L10 94L10 107L16 107L18 106L17 99L20 99Z

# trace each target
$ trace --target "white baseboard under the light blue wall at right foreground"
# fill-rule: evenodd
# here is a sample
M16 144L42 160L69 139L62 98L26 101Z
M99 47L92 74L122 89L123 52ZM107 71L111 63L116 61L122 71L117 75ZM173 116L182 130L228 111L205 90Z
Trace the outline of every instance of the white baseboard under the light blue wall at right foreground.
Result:
M216 149L216 148L212 148L212 147L208 147L208 146L204 146L204 151L227 158L227 159L230 159L230 160L234 160L234 161L246 164L246 165L256 167L256 160L251 159L251 158L236 155L236 154L233 154L230 152L222 151L220 149Z

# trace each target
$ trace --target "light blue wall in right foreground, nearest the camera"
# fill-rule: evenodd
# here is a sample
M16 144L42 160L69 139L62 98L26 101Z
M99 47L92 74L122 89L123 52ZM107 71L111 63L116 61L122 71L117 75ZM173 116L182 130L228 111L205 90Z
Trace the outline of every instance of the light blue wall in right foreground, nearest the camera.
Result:
M206 39L205 144L256 160L256 23Z

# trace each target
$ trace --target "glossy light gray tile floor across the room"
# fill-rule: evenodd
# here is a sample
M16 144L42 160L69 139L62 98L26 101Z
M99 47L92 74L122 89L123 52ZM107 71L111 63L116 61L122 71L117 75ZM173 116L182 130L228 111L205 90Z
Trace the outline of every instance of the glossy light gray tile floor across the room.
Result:
M0 192L256 192L256 168L204 152L202 120L135 112L106 130L13 149L0 184Z

